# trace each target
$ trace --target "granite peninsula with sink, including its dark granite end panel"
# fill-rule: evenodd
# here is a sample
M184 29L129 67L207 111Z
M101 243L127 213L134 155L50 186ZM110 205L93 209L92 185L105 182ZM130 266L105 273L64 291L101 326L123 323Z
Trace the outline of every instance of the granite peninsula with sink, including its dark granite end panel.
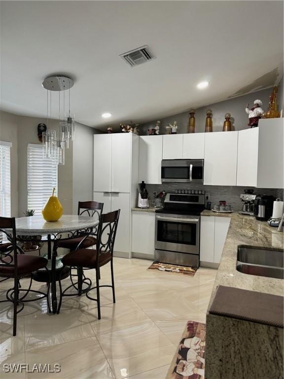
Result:
M202 214L210 216L212 212ZM283 297L283 279L249 275L236 268L239 245L283 249L283 241L284 233L267 222L231 214L206 318L206 379L283 378L283 328L210 311L218 286ZM273 312L271 309L272 318Z

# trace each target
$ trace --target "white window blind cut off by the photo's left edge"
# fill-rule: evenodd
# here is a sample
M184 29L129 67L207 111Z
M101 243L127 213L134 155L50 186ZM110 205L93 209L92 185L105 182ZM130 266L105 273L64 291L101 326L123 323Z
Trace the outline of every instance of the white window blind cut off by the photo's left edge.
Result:
M11 217L11 146L0 141L0 216Z

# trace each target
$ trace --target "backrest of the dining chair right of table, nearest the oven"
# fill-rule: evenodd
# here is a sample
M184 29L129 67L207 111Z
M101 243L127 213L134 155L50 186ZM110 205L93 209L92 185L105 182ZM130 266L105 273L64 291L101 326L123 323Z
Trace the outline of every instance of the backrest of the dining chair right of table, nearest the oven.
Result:
M97 254L113 253L120 209L102 215L97 242ZM97 260L98 261L98 260Z

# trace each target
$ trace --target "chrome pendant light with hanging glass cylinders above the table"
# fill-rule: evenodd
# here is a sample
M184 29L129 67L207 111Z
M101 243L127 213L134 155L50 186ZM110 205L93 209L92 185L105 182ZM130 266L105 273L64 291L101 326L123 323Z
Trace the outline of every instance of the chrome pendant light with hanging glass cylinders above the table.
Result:
M69 76L52 75L47 76L42 86L47 89L47 130L42 135L43 156L52 159L55 164L65 164L65 149L69 148L69 142L74 139L74 116L71 117L71 96L70 89L74 81ZM69 112L65 115L65 91L69 90ZM52 103L51 94L58 92L58 127L52 125ZM49 96L48 96L49 95ZM63 98L63 106L61 106ZM62 114L61 114L62 113ZM58 130L56 130L58 129Z

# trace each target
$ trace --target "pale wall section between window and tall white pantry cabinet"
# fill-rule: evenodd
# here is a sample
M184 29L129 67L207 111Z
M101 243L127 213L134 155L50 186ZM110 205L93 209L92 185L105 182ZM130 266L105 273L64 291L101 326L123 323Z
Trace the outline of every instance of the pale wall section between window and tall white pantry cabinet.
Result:
M75 124L73 142L73 214L77 213L78 201L93 199L93 135L97 131L88 126Z

